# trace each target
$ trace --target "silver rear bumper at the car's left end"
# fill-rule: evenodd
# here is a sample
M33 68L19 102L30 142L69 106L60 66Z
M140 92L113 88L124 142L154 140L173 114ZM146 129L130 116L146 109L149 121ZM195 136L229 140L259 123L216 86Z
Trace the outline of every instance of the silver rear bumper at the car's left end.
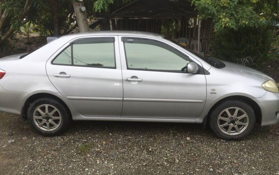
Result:
M20 114L28 93L6 91L0 85L0 111Z

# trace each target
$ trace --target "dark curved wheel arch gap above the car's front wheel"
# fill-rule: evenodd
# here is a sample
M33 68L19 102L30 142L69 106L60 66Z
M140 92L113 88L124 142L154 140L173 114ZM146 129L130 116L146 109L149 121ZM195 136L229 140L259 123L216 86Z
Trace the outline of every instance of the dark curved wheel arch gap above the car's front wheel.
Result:
M248 105L250 105L255 113L255 117L256 117L256 122L261 125L261 121L262 121L262 113L261 113L261 108L260 106L254 101L251 100L249 97L245 97L245 96L229 96L226 98L223 98L222 100L219 100L218 102L216 102L209 110L207 117L209 117L212 113L212 111L219 106L222 102L227 101L227 100L238 100L238 101L243 101L245 103L247 103ZM204 119L206 120L206 124L208 125L209 120L208 119Z

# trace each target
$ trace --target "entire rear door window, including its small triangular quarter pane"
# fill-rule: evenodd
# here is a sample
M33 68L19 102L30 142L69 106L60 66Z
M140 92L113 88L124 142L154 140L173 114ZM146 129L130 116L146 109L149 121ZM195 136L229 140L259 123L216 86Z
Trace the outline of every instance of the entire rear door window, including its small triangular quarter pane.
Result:
M78 40L63 50L53 64L115 68L114 38Z

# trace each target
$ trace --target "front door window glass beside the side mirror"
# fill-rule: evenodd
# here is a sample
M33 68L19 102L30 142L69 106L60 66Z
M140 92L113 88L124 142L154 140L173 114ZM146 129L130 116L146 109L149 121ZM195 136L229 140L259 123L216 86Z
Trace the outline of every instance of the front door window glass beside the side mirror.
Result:
M124 38L128 69L181 71L186 55L154 40Z

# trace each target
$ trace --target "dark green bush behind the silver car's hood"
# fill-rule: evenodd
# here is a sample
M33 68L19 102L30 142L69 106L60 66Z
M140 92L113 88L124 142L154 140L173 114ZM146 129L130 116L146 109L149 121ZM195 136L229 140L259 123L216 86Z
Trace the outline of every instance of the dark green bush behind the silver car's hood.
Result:
M238 31L226 28L214 33L211 47L216 58L256 65L277 56L275 43L274 30L268 26L243 27Z

